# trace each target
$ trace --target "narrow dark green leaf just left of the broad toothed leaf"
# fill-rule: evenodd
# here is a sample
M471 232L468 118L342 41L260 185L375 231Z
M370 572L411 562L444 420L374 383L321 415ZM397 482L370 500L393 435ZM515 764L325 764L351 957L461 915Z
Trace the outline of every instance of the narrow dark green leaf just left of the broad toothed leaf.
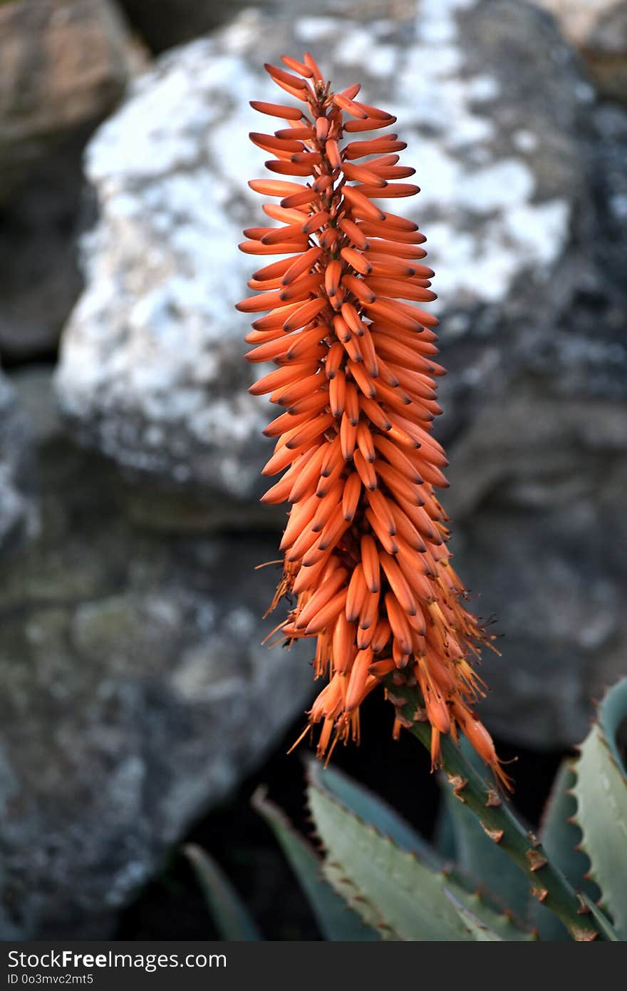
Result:
M321 858L261 789L253 796L252 804L274 833L325 939L345 942L380 939L375 930L365 925L364 915L357 915L349 907L354 893L347 889L342 891L342 897L336 894L334 888L339 886L325 881Z

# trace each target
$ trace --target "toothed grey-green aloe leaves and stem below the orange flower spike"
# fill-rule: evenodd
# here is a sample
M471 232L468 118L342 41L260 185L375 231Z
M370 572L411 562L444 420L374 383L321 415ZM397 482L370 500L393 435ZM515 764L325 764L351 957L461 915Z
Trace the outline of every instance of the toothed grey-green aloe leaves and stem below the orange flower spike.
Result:
M397 712L429 746L430 727L413 721L417 700L404 696ZM538 836L483 780L467 748L450 739L440 779L444 851L362 785L316 762L307 771L307 801L321 853L264 794L254 805L326 939L624 940L626 722L627 679L606 694L577 756L560 768ZM216 865L208 870L197 850L193 861L224 937L255 938L242 935L257 930L242 923L246 910L234 908L236 896ZM228 922L234 918L235 930Z

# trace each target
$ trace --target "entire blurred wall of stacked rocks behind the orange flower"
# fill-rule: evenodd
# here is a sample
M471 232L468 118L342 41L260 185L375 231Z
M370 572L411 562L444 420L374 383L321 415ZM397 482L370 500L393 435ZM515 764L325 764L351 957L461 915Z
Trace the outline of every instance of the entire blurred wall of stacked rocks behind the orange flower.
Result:
M0 2L5 939L109 936L307 706L306 652L260 643L281 515L233 309L281 52L417 168L485 720L567 748L625 671L627 3L313 7Z

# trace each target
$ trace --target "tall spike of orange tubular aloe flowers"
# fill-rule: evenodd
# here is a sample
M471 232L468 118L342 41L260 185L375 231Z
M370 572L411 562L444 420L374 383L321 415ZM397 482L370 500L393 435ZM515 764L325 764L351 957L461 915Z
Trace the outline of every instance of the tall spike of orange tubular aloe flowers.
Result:
M403 181L414 169L397 165L406 146L396 134L353 138L395 121L358 101L359 85L332 93L311 55L282 61L290 71L265 68L299 105L253 101L287 126L251 135L278 177L250 185L278 198L263 206L278 226L249 228L240 248L286 257L256 272L249 285L261 291L238 304L267 314L246 357L277 368L251 392L283 409L264 431L277 439L263 474L284 474L263 501L291 503L271 607L284 595L295 605L276 628L288 641L317 639L327 682L309 720L321 723L320 755L359 737L360 705L394 673L420 688L434 766L440 734L462 730L504 780L470 710L482 694L470 654L491 638L461 603L435 494L448 485L432 434L444 369L437 320L414 305L436 298L433 272L416 224L376 205L418 192Z

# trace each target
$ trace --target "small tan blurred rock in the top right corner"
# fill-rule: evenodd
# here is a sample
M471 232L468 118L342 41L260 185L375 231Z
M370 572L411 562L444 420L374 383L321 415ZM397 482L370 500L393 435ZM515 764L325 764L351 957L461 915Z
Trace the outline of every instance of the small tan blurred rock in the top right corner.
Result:
M602 96L627 102L625 0L533 0L557 18Z

